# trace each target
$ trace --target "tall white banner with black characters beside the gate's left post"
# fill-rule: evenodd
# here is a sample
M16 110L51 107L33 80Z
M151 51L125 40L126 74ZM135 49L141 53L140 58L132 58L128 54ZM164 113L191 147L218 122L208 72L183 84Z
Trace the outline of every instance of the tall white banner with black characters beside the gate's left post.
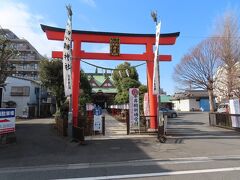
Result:
M72 10L71 6L67 6L68 20L64 34L63 48L63 80L65 96L72 94Z

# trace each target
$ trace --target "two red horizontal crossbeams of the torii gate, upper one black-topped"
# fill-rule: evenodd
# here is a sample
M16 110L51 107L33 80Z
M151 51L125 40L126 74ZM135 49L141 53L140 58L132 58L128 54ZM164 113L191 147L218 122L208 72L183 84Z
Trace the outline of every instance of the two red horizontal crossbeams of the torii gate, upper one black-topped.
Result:
M41 25L42 30L46 33L50 40L63 41L65 29L56 28L46 25ZM159 45L174 45L179 32L167 33L160 35ZM72 40L77 43L94 42L94 43L109 43L111 38L119 38L121 44L142 44L153 46L155 44L155 34L134 34L134 33L115 33L115 32L99 32L99 31L72 31ZM111 56L109 53L89 53L83 50L77 54L82 59L104 59L104 60L139 60L150 61L153 58L153 52L145 52L143 54L120 54L119 56ZM53 58L62 58L62 52L53 51ZM171 61L171 55L160 55L160 61Z

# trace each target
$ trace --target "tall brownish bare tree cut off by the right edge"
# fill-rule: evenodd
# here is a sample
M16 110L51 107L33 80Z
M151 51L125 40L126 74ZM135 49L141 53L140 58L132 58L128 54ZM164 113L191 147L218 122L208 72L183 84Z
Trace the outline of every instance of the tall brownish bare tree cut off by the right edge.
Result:
M216 33L220 37L219 55L223 66L218 70L215 83L219 96L230 99L238 95L240 89L240 31L238 17L234 12L227 12L220 19Z

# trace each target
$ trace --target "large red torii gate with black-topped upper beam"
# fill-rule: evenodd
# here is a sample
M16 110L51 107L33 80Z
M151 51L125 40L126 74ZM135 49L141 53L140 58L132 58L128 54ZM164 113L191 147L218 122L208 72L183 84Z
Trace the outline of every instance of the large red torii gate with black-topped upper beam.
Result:
M49 40L64 40L65 29L41 25ZM179 32L161 34L159 45L174 45ZM145 45L146 52L143 54L120 54L112 56L110 53L93 53L81 50L82 42L90 43L110 43L112 38L118 38L121 44L140 44ZM150 116L157 116L157 96L153 95L153 45L155 45L155 34L129 34L113 32L95 32L95 31L72 31L72 116L73 126L78 126L78 96L80 79L80 59L99 59L99 60L128 60L128 61L146 61L147 63L147 86L149 95ZM62 58L62 51L53 51L53 58ZM160 61L171 61L171 55L160 55ZM157 128L157 119L151 118L150 128Z

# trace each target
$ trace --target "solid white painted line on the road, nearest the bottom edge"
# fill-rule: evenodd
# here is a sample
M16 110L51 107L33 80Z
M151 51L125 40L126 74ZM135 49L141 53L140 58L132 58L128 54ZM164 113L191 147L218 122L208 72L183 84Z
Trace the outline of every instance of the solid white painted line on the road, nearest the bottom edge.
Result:
M201 169L201 170L189 170L189 171L174 171L174 172L160 172L160 173L147 173L147 174L129 174L129 175L116 175L116 176L99 176L99 177L87 177L87 178L70 178L70 179L57 179L57 180L126 179L126 178L173 176L173 175L185 175L185 174L203 174L203 173L228 172L228 171L240 171L240 167L218 168L218 169Z

